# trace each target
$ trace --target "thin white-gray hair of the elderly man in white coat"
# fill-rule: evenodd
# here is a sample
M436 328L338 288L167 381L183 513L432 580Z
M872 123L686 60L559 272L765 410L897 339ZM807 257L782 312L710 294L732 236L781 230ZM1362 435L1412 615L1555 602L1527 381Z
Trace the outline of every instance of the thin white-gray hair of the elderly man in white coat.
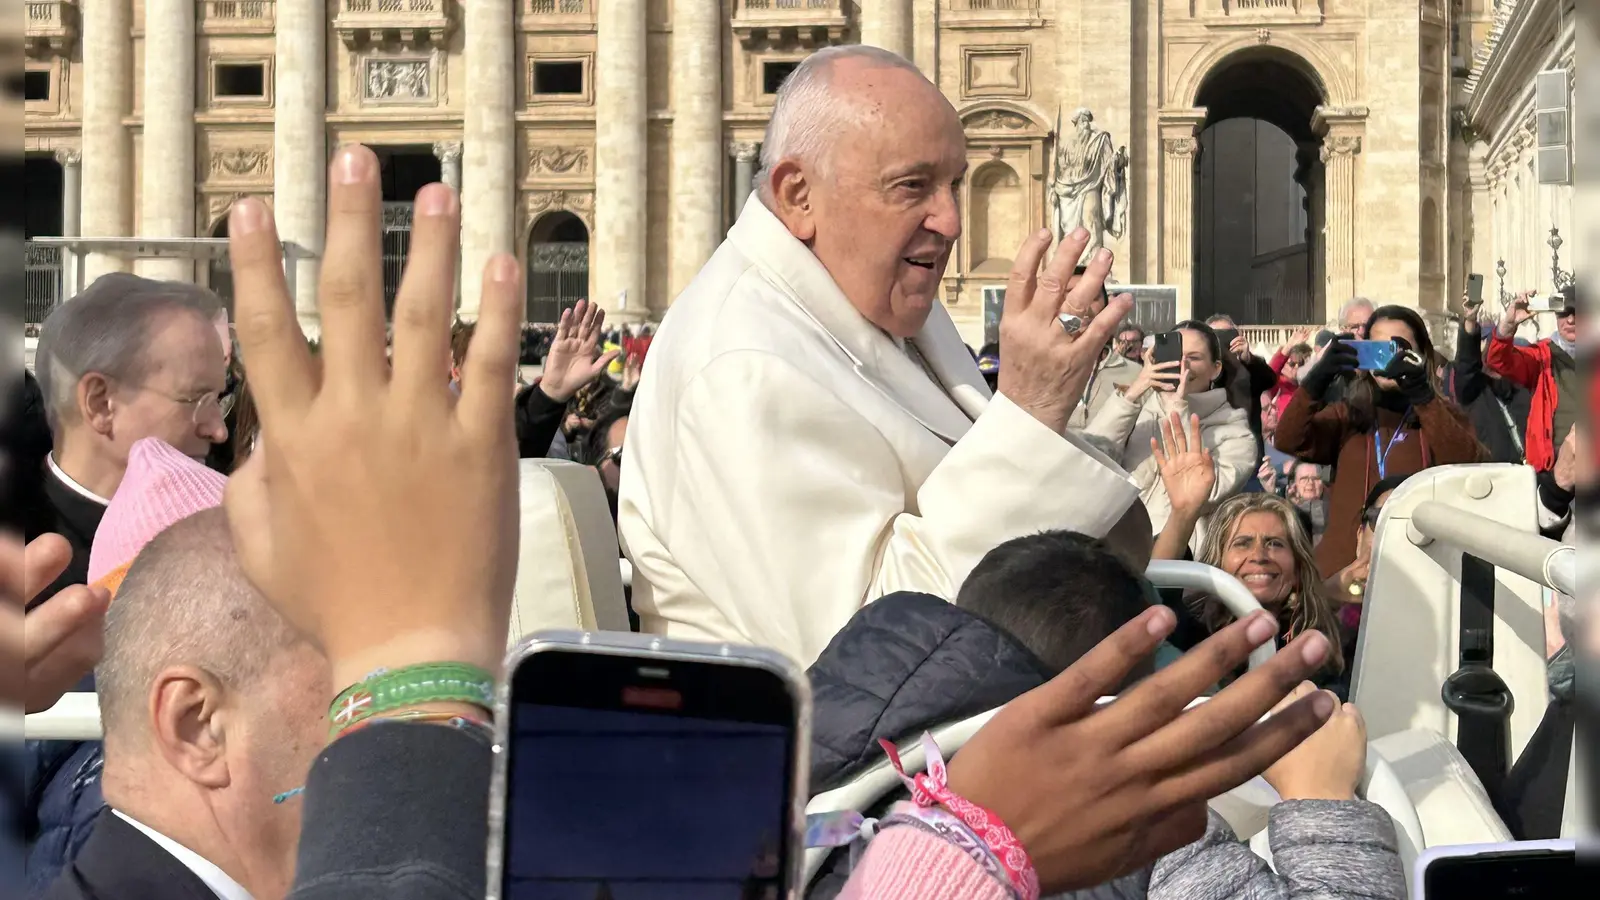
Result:
M880 46L846 43L824 46L800 61L784 78L773 104L762 139L762 167L755 173L755 191L771 202L773 168L786 159L800 159L826 171L826 151L838 141L840 127L856 114L856 107L834 96L834 64L861 59L882 69L904 69L922 75L914 62Z

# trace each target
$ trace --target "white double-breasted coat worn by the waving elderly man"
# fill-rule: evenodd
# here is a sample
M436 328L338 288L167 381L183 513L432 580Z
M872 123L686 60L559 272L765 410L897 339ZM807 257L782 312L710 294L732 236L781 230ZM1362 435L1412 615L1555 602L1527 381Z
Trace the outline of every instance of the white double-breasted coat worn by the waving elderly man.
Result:
M926 368L750 197L634 397L618 525L645 631L810 665L864 604L955 597L995 544L1104 535L1138 500L1109 458L990 399L942 306L914 344Z

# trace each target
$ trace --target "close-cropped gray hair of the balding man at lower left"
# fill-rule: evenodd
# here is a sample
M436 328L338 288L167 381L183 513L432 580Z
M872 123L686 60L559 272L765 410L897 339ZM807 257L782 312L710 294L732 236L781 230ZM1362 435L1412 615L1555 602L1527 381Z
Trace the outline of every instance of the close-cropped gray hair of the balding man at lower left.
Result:
M195 666L229 692L248 692L301 641L240 570L222 509L176 522L139 551L106 612L94 690L107 746L149 729L162 669Z

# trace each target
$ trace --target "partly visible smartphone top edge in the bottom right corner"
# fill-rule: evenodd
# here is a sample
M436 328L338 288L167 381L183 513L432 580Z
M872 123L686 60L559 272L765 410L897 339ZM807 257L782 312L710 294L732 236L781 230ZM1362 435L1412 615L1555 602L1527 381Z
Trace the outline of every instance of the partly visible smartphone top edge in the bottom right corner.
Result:
M1416 900L1534 900L1571 897L1573 841L1520 841L1430 847L1416 860Z

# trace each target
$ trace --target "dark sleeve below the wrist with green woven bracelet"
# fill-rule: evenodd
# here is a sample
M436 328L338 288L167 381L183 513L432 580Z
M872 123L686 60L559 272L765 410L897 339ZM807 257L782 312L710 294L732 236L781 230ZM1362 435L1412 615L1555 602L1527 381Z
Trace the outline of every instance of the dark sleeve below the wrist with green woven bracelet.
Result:
M306 781L296 886L426 870L483 897L488 743L430 724L379 724L328 745Z

